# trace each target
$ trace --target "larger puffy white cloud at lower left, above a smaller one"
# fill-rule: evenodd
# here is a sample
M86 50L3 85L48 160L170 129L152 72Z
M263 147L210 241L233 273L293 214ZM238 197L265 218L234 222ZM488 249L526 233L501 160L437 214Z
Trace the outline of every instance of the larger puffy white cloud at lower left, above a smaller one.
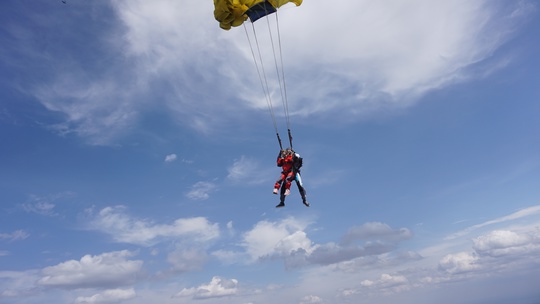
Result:
M85 255L79 261L69 260L42 270L38 284L68 289L114 287L131 284L141 271L143 261L129 260L127 250Z

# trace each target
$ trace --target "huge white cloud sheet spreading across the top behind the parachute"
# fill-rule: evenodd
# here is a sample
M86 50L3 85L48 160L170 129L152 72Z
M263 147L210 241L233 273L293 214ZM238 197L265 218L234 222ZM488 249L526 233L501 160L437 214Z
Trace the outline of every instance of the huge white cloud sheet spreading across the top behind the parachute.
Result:
M65 115L58 131L111 144L133 132L150 107L202 133L247 117L249 108L266 111L243 30L220 30L211 2L124 0L112 7L117 18L108 31L89 39L92 50L108 50L102 57L121 54L123 60L89 72L81 63L88 58L53 54L47 64L61 70L51 69L49 83L31 90L49 110ZM354 118L401 108L501 66L478 63L527 17L518 1L501 7L499 1L311 0L282 10L291 114L324 117L335 110ZM354 26L334 22L335 16Z

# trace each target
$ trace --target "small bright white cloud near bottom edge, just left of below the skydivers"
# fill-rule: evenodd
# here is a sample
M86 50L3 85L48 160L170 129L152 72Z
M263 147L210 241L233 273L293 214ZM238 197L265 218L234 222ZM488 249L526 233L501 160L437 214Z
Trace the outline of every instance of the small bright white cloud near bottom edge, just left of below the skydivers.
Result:
M193 297L194 299L220 298L238 293L238 281L213 277L209 284L199 287L184 288L175 297Z

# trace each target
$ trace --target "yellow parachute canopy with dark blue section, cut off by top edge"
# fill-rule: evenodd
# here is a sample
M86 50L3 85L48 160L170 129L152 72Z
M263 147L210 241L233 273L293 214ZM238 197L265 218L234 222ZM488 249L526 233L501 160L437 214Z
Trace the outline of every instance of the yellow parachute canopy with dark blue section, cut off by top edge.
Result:
M229 30L248 18L255 22L289 2L296 6L302 4L302 0L214 0L214 17L222 29Z

